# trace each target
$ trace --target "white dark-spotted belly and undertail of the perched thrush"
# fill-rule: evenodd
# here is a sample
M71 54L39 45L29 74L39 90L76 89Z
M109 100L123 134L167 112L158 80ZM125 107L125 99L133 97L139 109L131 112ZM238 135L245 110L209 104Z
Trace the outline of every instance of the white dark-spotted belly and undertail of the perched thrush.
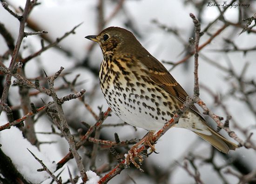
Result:
M121 92L114 85L109 85L108 95L105 95L109 107L121 120L146 130L160 130L167 121L171 120L173 114L164 105L162 98L156 97L161 96L161 93L155 91L153 98L149 95L141 95L141 91L126 91L125 87L123 89ZM148 92L147 88L144 91ZM159 104L158 107L156 104ZM187 118L180 118L175 127L211 135L199 116L193 113L189 113Z

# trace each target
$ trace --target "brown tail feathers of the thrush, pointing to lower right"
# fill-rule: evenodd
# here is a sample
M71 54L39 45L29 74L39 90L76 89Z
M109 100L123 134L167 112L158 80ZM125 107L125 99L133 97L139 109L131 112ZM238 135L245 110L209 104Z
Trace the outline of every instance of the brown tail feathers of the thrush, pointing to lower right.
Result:
M238 146L235 143L227 140L212 128L210 127L208 128L209 128L209 131L212 133L211 135L205 135L198 132L195 132L195 133L199 135L202 139L209 142L212 146L216 147L216 149L221 152L228 153L229 150L236 150Z

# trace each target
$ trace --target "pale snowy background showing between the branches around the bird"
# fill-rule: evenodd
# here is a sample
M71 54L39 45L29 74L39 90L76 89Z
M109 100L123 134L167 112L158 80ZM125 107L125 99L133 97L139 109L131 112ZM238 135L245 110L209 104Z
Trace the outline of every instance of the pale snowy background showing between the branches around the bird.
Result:
M25 0L9 0L8 3L17 8L19 6L25 6ZM100 47L94 45L92 51L88 51L88 48L92 44L84 37L87 35L97 34L98 30L98 14L97 6L98 0L40 0L41 4L35 6L29 16L29 20L38 25L41 30L48 32L46 35L50 40L55 40L61 37L65 32L70 31L75 25L82 22L82 25L75 30L75 34L69 35L58 46L71 53L67 56L63 50L57 48L51 48L43 52L39 57L36 57L29 61L25 66L26 77L35 78L40 75L42 69L47 74L52 75L54 72L64 67L64 72L71 72L66 76L66 79L72 81L77 74L81 76L78 78L78 82L82 82L81 85L76 86L77 90L86 89L85 101L93 108L97 114L100 112L98 106L103 105L102 110L108 108L105 102L101 90L98 85L97 70L100 67L102 60L102 54ZM186 2L186 3L185 3ZM200 2L200 1L198 1ZM217 1L223 3L223 1ZM247 2L247 1L246 1ZM250 7L247 14L251 17L256 12L256 2L249 1ZM111 13L114 11L117 1L104 0L104 17L108 19ZM120 26L129 29L131 32L135 32L135 36L141 42L141 44L159 61L171 61L177 62L181 60L185 54L185 48L181 40L174 34L168 32L168 29L162 29L152 20L157 20L163 25L167 25L173 29L178 30L180 38L188 42L189 37L192 37L194 31L194 25L189 17L189 13L194 13L198 16L198 9L192 3L192 1L185 0L126 0L123 3L122 9L104 25L104 28L108 26ZM203 5L203 11L201 12L202 30L212 20L219 16L219 11L216 7L207 7ZM224 17L230 22L236 22L238 20L238 8L229 8ZM243 17L248 18L248 17ZM10 13L8 13L2 6L0 6L0 23L4 24L12 34L13 38L17 38L19 32L19 21L15 19ZM210 27L210 33L216 32L223 23L218 21L214 26ZM25 28L26 31L32 31L29 28ZM255 29L255 28L254 28ZM243 70L243 66L246 62L249 63L249 67L246 71L246 79L254 79L256 77L256 52L250 51L245 55L243 52L213 52L213 49L223 49L225 45L224 38L229 38L234 41L239 48L250 48L255 46L256 35L255 33L248 34L244 32L239 35L242 29L237 29L234 26L229 26L220 35L218 35L211 44L207 45L200 53L212 59L216 63L229 68L229 63L232 63L233 69L237 74L240 74ZM209 39L209 35L202 36L200 43L204 43ZM29 36L24 38L21 45L20 53L23 58L29 56L31 53L40 50L40 36ZM47 42L46 42L47 44ZM227 46L228 47L228 46ZM7 45L4 39L0 36L0 55L3 55L7 51ZM88 54L89 53L89 54ZM9 61L5 61L6 66L9 65ZM167 69L171 69L172 65L165 64ZM182 87L190 94L193 93L193 57L191 57L187 63L180 64L171 70L171 74L182 85ZM220 70L218 67L209 64L205 59L200 57L199 60L199 82L207 86L216 94L228 94L230 83L232 83L232 75ZM234 79L235 80L235 79ZM235 83L235 82L233 82ZM61 86L63 80L58 79L55 82L55 86ZM33 91L33 90L32 90ZM59 96L67 95L70 90L58 91ZM11 86L9 98L13 106L20 104L20 96L18 95L18 87ZM209 95L208 91L201 89L201 98L207 103L208 107L212 109L216 114L226 117L222 108L216 107L214 99ZM36 107L41 107L43 104L40 101L42 98L45 102L51 101L46 95L32 96L31 101L35 103ZM251 99L256 102L256 95ZM237 100L236 98L226 96L223 102L229 108L229 112L232 114L232 118L239 123L243 128L256 125L255 114L251 113L248 106ZM94 117L84 108L83 104L78 100L72 100L63 104L64 111L67 116L67 120L73 128L73 133L81 127L80 122L85 121L89 125L93 125L96 121ZM256 108L256 107L254 107ZM209 122L209 118L207 119ZM7 123L6 113L3 112L0 116L0 126ZM115 114L112 114L104 123L121 123ZM232 121L230 123L232 126ZM47 116L41 116L35 124L36 132L50 132L51 121ZM236 131L236 129L235 129ZM104 127L101 129L101 138L114 141L114 133L118 133L120 140L130 140L132 138L141 138L146 133L145 130L137 128L135 131L132 126L122 127ZM250 132L256 132L251 128ZM227 133L221 131L221 133L228 137ZM242 139L246 139L243 133L236 131ZM0 132L0 144L2 151L7 154L17 166L17 169L22 175L32 183L49 184L51 179L46 180L48 177L46 172L37 172L36 170L41 168L40 164L33 158L33 156L27 151L27 148L32 151L39 159L43 160L47 167L54 171L56 163L60 161L68 152L68 144L65 138L61 138L58 135L37 134L39 141L55 141L52 144L41 144L40 151L31 146L30 143L23 138L22 133L16 127L4 130ZM230 139L231 140L231 139ZM252 136L252 140L256 140L256 136ZM209 157L211 153L211 146L202 141L198 136L189 130L172 128L161 140L155 145L156 152L159 154L152 154L144 160L144 167L150 167L154 165L152 170L159 169L160 171L169 171L171 173L168 177L168 183L173 184L189 184L194 183L194 179L188 175L188 173L175 165L175 161L182 163L184 157L188 156L189 152L193 152L195 155L202 157ZM103 152L104 151L104 152ZM108 162L108 151L103 150L96 157L96 167L99 167ZM86 148L81 149L80 153L83 155L84 165L86 170L89 170L90 159L86 156ZM100 151L101 152L101 151ZM222 154L216 153L215 162L218 166L225 165L228 159L241 159L245 164L245 167L249 169L256 169L256 152L252 149L239 148L237 151L231 151L228 157ZM195 162L200 165L200 162ZM71 169L72 175L78 175L79 172L76 169L74 160L70 160L67 165ZM232 167L232 166L230 166ZM68 179L67 166L65 165L64 171L61 173L63 181ZM174 169L175 168L175 169ZM150 169L148 169L150 171ZM234 168L236 170L236 168ZM157 173L152 171L153 173ZM56 172L56 175L59 171ZM222 183L222 179L216 174L212 165L200 165L199 172L201 179L207 184ZM223 171L222 171L223 172ZM104 173L103 173L104 174ZM101 174L100 176L103 176ZM151 176L152 177L152 176ZM158 176L159 177L159 176ZM230 184L237 183L238 178L228 175L225 176L227 182ZM132 178L132 179L131 179ZM109 183L125 183L133 184L148 184L157 183L147 174L143 174L140 171L134 169L125 169L120 175L117 175Z

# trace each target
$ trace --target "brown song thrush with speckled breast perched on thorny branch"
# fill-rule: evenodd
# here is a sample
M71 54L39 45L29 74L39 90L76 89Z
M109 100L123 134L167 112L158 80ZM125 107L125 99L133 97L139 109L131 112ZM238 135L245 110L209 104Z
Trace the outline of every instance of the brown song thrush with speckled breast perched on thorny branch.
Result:
M113 112L135 127L159 130L182 107L188 94L168 70L126 29L108 27L88 38L103 54L101 90ZM186 128L228 153L236 145L212 129L192 106L175 127Z

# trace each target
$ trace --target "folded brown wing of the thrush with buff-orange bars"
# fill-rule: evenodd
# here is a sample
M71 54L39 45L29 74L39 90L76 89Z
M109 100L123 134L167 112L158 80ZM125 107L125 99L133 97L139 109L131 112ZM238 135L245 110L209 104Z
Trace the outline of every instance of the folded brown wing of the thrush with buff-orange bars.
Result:
M149 78L157 85L161 86L166 92L173 95L179 101L184 103L188 94L175 80L175 78L168 72L168 70L155 57L147 55L141 57L140 61L146 66ZM191 107L197 114L201 115L198 109L193 105Z

